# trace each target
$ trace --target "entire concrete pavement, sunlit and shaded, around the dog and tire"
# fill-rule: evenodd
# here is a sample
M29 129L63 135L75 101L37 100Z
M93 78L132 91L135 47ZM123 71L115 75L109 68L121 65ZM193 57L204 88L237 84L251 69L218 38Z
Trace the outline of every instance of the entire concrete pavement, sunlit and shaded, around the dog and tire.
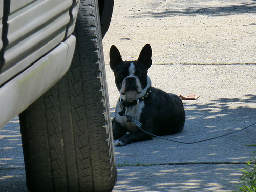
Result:
M111 114L118 91L109 68L112 44L123 60L150 43L154 87L190 95L184 130L165 138L195 142L256 123L255 1L116 0L103 39ZM256 125L195 144L153 138L115 147L113 191L232 191L255 147ZM0 130L0 191L27 191L18 119Z

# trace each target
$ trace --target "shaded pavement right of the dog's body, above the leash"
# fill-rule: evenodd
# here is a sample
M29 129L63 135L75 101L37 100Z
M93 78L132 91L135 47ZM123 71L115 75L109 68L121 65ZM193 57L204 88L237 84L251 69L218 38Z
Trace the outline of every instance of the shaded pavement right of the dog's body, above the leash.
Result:
M200 98L199 98L200 100ZM207 103L184 100L186 122L184 130L166 138L194 142L240 130L256 123L256 95L247 94L243 98L218 98ZM115 108L111 108L111 117ZM252 126L255 127L256 125ZM218 135L219 134L219 135ZM200 136L199 136L200 135Z

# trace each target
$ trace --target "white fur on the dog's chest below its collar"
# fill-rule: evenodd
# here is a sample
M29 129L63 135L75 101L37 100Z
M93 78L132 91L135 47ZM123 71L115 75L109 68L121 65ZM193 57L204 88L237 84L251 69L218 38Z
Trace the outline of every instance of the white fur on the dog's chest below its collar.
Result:
M138 110L136 110L136 105L135 106L130 106L129 108L126 108L125 115L134 117L134 118L136 118L139 121L144 106L145 106L144 101L139 103ZM119 122L123 127L125 127L130 133L137 131L138 127L135 126L132 122L127 122L127 117L125 115L120 116L118 111L121 111L120 110L120 102L119 101L117 101L117 105L116 105L115 120L117 122ZM137 114L137 117L135 117L136 114Z

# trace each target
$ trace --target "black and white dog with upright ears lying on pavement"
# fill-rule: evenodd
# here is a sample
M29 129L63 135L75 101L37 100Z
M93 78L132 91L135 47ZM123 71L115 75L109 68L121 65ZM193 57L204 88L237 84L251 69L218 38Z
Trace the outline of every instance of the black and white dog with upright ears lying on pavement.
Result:
M151 55L151 46L146 44L137 61L122 61L119 50L114 45L110 48L110 68L120 92L112 119L113 136L118 139L116 146L153 138L138 129L136 122L143 130L158 136L175 134L183 129L185 111L181 99L151 87L147 75L152 64Z

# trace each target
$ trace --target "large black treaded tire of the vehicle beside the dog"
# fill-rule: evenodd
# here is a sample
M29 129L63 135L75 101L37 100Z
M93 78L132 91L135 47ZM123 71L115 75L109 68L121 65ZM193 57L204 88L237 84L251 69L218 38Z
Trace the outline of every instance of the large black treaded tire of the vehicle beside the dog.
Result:
M116 183L98 14L97 1L81 1L69 71L19 115L29 191L112 191Z

